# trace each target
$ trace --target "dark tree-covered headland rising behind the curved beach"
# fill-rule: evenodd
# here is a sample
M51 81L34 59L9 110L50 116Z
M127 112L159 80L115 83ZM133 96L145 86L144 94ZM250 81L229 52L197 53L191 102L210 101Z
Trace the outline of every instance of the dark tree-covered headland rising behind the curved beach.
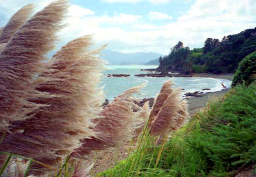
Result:
M255 50L256 28L224 36L221 41L207 38L202 48L192 50L179 41L159 61L159 68L167 65L168 69L183 73L233 73L238 63Z

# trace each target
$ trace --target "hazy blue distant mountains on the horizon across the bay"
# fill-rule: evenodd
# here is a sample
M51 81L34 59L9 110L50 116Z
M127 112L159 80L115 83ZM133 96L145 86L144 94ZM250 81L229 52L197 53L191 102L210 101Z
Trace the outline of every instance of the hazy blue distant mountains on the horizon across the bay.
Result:
M163 54L154 52L136 52L136 53L121 53L112 50L103 50L102 58L107 60L111 65L131 65L131 64L146 64L146 65L158 65L159 57L163 57ZM151 61L153 60L153 61Z

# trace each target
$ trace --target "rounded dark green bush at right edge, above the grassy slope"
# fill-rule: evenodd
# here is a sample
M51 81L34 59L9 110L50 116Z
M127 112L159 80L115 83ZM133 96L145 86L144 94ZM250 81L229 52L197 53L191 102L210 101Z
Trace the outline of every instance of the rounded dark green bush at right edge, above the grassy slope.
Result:
M255 79L255 77L252 76L253 74L256 74L256 51L248 54L241 60L235 71L232 86L242 84L243 82L245 85L250 84Z

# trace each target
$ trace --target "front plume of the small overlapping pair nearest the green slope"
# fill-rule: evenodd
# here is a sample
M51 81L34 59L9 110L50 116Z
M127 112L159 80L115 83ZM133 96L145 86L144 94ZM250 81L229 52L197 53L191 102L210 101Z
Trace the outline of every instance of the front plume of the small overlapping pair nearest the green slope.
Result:
M157 116L152 122L150 128L150 133L152 135L165 135L168 134L169 131L178 129L176 119L179 116L178 111L182 109L180 99L180 87L175 88L164 101L163 106L160 108Z

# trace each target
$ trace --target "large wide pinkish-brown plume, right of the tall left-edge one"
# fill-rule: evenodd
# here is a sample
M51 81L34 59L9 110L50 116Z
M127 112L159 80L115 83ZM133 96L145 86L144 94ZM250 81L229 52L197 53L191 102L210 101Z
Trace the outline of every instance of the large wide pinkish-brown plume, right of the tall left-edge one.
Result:
M56 167L79 147L80 139L94 135L89 128L92 126L90 118L101 110L101 88L97 84L104 62L88 52L90 44L91 37L83 36L53 55L52 65L39 76L42 82L36 86L38 91L53 96L30 99L49 105L36 110L31 118L13 123L13 129L24 129L24 132L6 136L3 141L6 150ZM40 168L44 167L37 163L31 165L31 169ZM35 175L45 172L30 171Z

